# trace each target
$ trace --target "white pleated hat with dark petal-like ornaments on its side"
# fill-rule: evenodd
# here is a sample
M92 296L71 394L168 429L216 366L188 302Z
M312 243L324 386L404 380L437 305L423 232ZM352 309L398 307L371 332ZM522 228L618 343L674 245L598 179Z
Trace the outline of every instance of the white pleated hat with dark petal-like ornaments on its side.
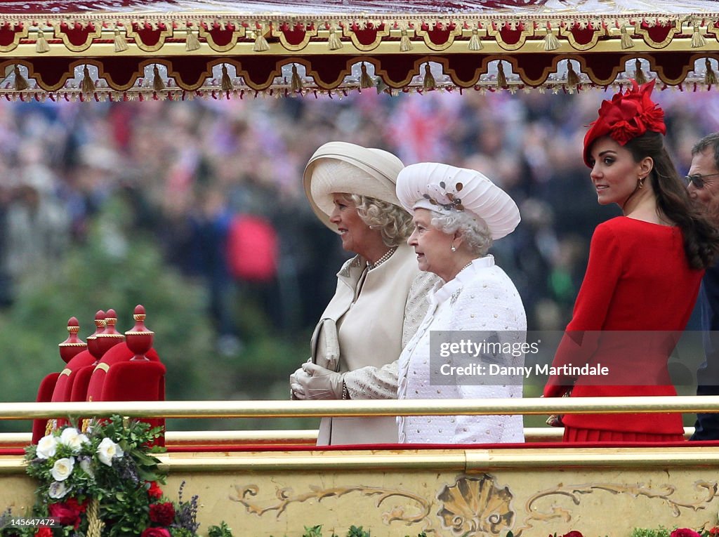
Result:
M493 239L510 234L520 221L514 200L485 175L439 162L420 162L402 170L397 178L397 196L408 211L427 208L444 214L464 211L479 216Z

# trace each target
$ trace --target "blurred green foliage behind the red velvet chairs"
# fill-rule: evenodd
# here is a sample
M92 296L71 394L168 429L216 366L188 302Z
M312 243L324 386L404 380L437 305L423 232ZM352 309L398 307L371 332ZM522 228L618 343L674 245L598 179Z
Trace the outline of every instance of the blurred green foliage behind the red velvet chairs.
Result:
M132 328L134 306L147 311L154 346L168 368L168 400L283 399L287 378L308 352L308 334L275 334L260 308L238 298L244 348L216 352L206 291L162 260L160 245L138 233L122 198L111 198L94 219L88 241L70 249L50 270L25 275L14 304L0 311L3 382L0 400L34 401L45 375L63 369L58 343L68 318L80 322L80 336L94 331L99 309L114 308L117 329ZM38 267L40 269L40 267ZM172 420L170 430L206 428L312 428L307 420ZM0 431L29 431L25 421L0 421Z

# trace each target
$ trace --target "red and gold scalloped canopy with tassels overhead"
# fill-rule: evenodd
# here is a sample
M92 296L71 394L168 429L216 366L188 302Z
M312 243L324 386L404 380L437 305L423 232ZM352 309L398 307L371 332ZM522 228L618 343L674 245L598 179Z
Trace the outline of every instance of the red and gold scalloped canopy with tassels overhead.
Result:
M709 0L0 0L5 93L711 86L718 60Z

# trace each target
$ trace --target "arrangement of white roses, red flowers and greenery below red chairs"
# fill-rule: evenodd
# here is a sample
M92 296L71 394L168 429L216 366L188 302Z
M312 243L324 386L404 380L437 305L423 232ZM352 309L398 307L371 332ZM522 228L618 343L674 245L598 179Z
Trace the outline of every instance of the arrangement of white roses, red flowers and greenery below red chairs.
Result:
M194 537L198 497L173 502L153 445L160 428L113 416L81 432L70 425L25 449L27 474L39 483L24 516L43 525L7 527L3 537ZM211 534L231 537L224 522Z

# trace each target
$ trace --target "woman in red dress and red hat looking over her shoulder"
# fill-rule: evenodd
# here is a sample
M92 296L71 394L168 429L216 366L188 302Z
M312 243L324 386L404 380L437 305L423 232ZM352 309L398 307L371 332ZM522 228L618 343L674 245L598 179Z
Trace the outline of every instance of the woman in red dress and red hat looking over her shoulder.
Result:
M677 395L669 355L719 249L718 231L692 205L664 149L654 82L632 83L603 102L585 136L597 201L617 203L623 216L595 229L544 397ZM585 364L593 375L572 375ZM596 374L601 367L606 375ZM684 431L679 413L572 414L563 423L564 441L677 441Z

